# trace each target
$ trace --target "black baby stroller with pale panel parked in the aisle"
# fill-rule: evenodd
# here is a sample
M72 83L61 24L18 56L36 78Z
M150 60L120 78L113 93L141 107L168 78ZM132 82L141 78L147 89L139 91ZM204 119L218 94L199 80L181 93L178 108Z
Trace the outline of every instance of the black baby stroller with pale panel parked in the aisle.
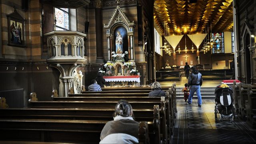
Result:
M234 106L233 106L233 90L228 87L217 86L215 88L215 122L217 119L217 113L220 114L220 120L226 121L230 120L232 122L236 116Z

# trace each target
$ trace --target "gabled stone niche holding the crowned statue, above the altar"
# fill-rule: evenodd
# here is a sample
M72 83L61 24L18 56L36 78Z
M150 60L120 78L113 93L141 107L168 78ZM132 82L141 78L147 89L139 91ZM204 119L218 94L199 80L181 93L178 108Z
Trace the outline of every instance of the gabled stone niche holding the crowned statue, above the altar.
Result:
M134 62L134 21L116 6L106 29L108 62Z

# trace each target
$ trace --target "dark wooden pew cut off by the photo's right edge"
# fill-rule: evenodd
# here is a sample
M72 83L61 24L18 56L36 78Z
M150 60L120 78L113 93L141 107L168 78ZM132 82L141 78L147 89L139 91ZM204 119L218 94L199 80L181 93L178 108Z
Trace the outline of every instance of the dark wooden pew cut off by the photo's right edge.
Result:
M250 85L247 90L248 104L246 105L247 120L256 128L256 85Z

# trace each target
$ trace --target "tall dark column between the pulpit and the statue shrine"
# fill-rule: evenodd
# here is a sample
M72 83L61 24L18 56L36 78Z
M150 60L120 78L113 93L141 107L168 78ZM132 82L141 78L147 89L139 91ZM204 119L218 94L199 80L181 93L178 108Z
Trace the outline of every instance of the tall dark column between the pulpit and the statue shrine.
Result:
M95 22L96 22L96 62L103 63L102 45L102 0L95 0Z

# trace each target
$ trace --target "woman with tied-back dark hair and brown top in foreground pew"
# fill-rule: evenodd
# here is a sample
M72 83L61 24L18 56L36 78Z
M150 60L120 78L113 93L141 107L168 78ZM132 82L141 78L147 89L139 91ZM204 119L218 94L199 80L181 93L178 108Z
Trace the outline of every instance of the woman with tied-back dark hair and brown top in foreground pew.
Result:
M139 123L132 117L132 106L120 100L115 106L114 120L106 123L100 134L100 144L138 144Z

